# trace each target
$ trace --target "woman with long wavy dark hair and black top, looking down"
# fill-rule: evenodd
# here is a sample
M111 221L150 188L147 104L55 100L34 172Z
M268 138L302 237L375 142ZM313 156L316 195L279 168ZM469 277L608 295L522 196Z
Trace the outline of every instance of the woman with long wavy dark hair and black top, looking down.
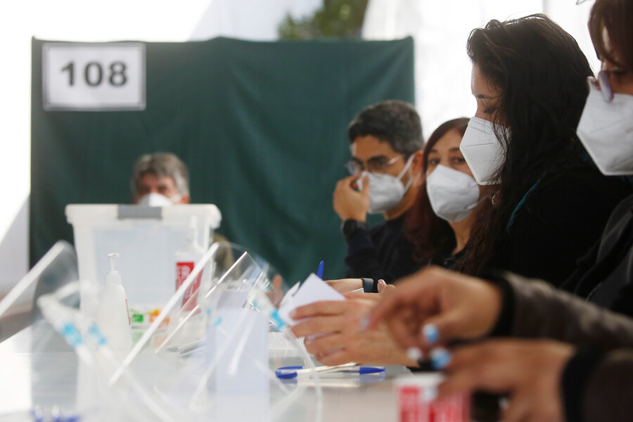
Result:
M461 151L485 199L460 270L497 267L560 286L631 193L599 172L575 132L592 70L545 15L492 20L467 50L477 111Z

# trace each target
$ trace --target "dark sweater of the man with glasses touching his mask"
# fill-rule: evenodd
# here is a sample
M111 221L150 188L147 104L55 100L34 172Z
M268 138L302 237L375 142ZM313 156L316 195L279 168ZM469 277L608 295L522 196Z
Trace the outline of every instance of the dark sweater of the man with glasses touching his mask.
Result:
M347 241L346 276L393 283L418 269L413 251L414 246L404 235L404 215L359 230Z

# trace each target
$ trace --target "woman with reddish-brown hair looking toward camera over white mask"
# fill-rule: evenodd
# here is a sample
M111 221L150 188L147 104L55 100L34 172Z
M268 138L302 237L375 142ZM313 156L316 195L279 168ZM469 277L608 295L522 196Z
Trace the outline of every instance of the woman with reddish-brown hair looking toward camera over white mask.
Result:
M459 151L467 125L466 117L442 123L424 146L426 181L407 215L407 237L421 264L453 269L470 238L480 186Z

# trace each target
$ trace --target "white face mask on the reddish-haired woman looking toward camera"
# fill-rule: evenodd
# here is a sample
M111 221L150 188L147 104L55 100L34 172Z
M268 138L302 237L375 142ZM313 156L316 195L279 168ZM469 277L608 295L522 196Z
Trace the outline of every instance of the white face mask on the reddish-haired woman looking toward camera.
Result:
M438 165L426 177L433 212L447 222L461 222L479 202L479 185L470 175Z

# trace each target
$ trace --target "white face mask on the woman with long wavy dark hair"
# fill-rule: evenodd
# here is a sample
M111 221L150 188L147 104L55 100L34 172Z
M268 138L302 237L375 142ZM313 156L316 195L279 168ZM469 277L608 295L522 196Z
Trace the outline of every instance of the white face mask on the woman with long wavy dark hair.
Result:
M459 144L463 159L480 185L497 184L494 174L506 159L504 146L494 134L495 128L508 133L508 129L500 124L472 117Z

